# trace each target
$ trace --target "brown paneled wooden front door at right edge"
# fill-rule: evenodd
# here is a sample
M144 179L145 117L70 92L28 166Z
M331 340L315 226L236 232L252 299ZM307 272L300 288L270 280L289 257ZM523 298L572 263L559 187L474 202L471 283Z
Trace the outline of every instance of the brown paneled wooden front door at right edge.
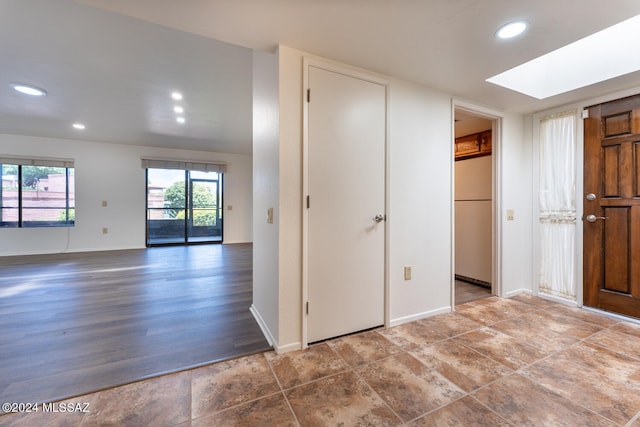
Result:
M584 304L640 318L640 95L584 120Z

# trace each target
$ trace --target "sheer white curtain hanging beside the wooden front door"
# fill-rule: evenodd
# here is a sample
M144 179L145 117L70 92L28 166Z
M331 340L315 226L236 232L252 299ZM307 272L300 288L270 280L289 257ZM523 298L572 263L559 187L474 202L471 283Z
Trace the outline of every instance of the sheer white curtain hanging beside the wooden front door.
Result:
M539 291L576 299L577 113L540 121Z

